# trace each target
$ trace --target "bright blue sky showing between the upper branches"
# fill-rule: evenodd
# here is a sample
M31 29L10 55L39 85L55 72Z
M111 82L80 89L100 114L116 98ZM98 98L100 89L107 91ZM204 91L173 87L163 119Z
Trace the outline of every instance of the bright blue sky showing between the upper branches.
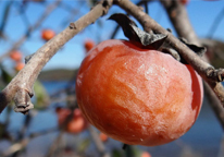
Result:
M2 22L2 14L8 0L0 1L0 22ZM25 9L25 15L28 19L28 23L34 24L41 13L45 11L48 3L52 3L49 0L43 3L28 2ZM137 2L137 1L134 1ZM20 13L21 1L14 1L11 8L9 20L7 21L4 34L8 36L8 40L0 39L0 56L3 55L21 36L24 35L27 24L24 23ZM74 8L74 13L70 10ZM216 15L224 9L224 1L203 1L203 0L190 0L186 5L189 14L190 22L196 31L197 35L201 38L208 37L210 27L214 22ZM75 22L82 15L89 11L88 2L85 0L64 0L63 5L57 8L41 24L41 26L33 32L30 37L21 46L20 50L26 55L30 55L37 51L45 41L40 37L42 28L51 28L57 33L63 31L69 26L70 22ZM45 67L43 70L49 69L75 69L78 68L83 58L85 57L84 40L91 38L96 43L109 39L116 26L115 22L107 21L107 19L117 12L124 12L119 7L112 7L109 13L101 17L95 24L88 26L85 31L76 35L71 39ZM155 1L149 3L149 14L164 28L172 28L167 15L162 5ZM140 27L140 26L139 26ZM125 38L120 29L115 38ZM213 38L224 41L224 20L221 21L217 29L213 34ZM13 67L13 62L9 59L3 61L3 65Z

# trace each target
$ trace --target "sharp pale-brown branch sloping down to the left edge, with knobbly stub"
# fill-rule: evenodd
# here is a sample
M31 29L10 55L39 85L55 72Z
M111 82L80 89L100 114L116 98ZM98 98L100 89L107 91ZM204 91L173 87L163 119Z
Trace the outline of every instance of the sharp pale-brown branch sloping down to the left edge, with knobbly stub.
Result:
M111 4L112 1L109 0L98 3L89 13L80 17L78 21L71 23L63 32L39 48L26 63L24 69L21 70L10 84L0 93L0 112L2 112L12 99L15 101L15 111L26 113L30 108L33 108L30 102L33 85L45 64L60 48L63 47L65 43L86 26L94 23L97 19L104 15Z

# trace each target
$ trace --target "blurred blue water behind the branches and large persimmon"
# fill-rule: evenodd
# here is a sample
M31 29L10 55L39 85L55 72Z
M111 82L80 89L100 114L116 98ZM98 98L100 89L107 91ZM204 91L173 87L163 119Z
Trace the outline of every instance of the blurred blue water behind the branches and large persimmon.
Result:
M49 94L53 94L59 89L63 89L67 85L67 82L43 82L43 85ZM1 114L1 121L4 120L3 117L4 112ZM22 128L23 121L23 114L13 112L11 116L9 131L13 132ZM55 128L57 125L57 114L54 110L50 108L48 110L37 112L32 120L27 134ZM45 153L48 152L49 146L54 141L57 134L58 132L54 132L33 138L27 146L28 149L26 154L23 154L23 156L43 157ZM83 136L88 135L87 132L82 134ZM75 135L72 140L79 140L80 136ZM196 123L184 136L162 146L136 147L150 152L152 157L222 157L220 155L222 138L223 130L208 101L204 99L201 112ZM0 152L8 146L10 146L9 142L0 142ZM115 148L121 149L122 143L109 140L105 143L105 146L109 150ZM90 147L88 152L92 152L94 149L95 147Z

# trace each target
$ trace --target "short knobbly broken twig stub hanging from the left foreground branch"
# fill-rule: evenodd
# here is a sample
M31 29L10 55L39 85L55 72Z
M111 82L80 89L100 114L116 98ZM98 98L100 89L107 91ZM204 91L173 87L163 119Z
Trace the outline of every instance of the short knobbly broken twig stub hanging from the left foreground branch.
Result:
M22 112L24 114L28 113L29 109L34 108L34 105L32 104L30 98L34 96L33 93L29 93L27 89L18 89L14 97L14 111L15 112Z

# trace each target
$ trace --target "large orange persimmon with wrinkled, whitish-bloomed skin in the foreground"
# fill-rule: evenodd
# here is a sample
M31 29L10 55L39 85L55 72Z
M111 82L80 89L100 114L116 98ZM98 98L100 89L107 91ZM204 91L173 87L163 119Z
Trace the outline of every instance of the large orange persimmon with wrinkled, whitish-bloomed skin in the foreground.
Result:
M201 78L190 65L125 40L91 49L76 80L87 120L130 145L162 145L185 134L199 114L202 94Z

